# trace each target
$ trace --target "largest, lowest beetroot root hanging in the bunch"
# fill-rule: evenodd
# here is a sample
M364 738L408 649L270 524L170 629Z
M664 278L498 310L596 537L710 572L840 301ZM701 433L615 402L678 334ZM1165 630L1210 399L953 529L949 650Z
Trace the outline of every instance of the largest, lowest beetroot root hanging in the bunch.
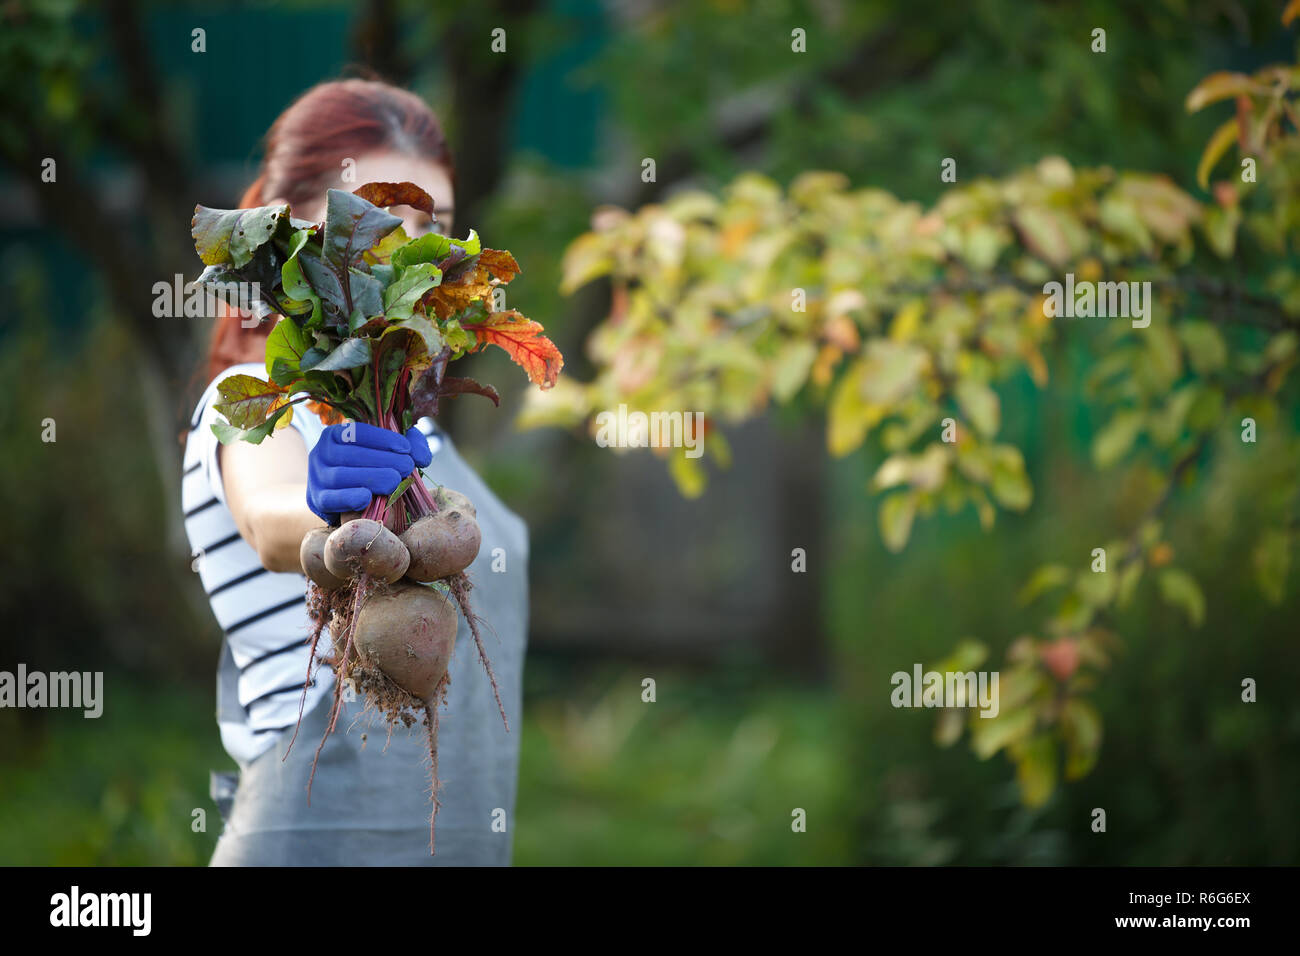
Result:
M433 698L456 646L456 605L436 588L398 584L370 594L356 615L356 649L398 687Z

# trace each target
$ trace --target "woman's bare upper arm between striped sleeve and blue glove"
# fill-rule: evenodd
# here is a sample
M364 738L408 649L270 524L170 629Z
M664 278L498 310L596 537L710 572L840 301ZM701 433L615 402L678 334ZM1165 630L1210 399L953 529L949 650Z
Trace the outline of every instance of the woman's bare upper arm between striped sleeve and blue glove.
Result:
M307 445L292 428L217 451L235 527L268 571L296 571L303 535L325 523L307 507Z

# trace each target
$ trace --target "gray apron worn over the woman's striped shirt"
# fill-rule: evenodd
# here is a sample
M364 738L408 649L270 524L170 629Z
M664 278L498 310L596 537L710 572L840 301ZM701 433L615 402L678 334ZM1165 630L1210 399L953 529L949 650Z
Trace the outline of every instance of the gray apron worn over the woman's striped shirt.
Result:
M447 704L438 718L437 855L429 855L429 756L421 723L398 724L391 740L382 719L361 717L363 700L344 704L325 741L307 805L307 779L334 702L333 693L276 745L229 778L214 777L213 799L225 829L213 866L508 865L515 827L519 734L523 728L523 662L528 630L528 531L456 453L446 433L425 468L477 509L482 546L469 566L471 601L493 662L506 732L469 626L460 620L451 658ZM494 550L500 553L494 555ZM493 563L504 571L493 571ZM322 639L324 640L324 639ZM238 671L228 648L217 675L218 719L238 719ZM333 680L328 669L318 679ZM231 799L233 797L233 799ZM229 808L229 810L226 809Z

